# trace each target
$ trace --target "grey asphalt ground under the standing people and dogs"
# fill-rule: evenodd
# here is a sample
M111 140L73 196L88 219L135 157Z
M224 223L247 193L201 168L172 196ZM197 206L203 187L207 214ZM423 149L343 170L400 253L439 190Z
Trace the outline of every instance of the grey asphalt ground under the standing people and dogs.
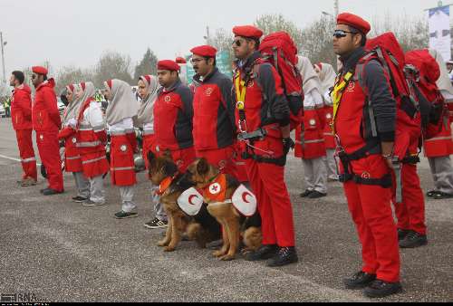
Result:
M37 153L37 151L36 151ZM304 169L290 158L287 184L294 206L300 262L279 269L241 258L224 263L182 243L175 253L156 246L151 231L149 183L139 175L140 217L116 220L120 195L105 181L108 205L72 203L66 193L44 197L39 185L21 188L14 131L0 119L0 293L33 293L38 301L370 301L347 291L342 278L361 268L361 249L342 186L329 196L302 200ZM427 160L419 167L424 190L431 186ZM429 245L401 252L404 292L378 301L453 301L453 201L427 200Z

